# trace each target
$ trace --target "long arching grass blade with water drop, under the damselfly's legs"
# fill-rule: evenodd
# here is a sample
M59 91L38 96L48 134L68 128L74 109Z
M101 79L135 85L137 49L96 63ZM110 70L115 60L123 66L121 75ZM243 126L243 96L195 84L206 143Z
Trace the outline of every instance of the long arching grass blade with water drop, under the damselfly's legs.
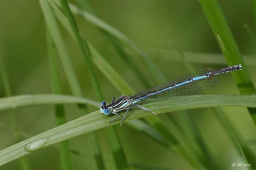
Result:
M161 101L147 100L150 102L143 102L144 104L142 103L142 106L159 114L183 109L216 107L215 100L217 100L221 106L256 107L255 95L195 95ZM124 122L151 115L152 113L150 112L135 110L133 111L132 116L126 116ZM24 140L0 151L0 166L20 158L21 156L27 155L30 152L33 152L34 149L31 149L31 146L35 146L35 150L38 150L63 140L67 140L72 137L91 132L93 130L104 128L108 125L110 120L112 120L112 117L105 116L99 111L95 111L91 114L82 116L76 120ZM121 120L119 119L112 122L110 125L120 123ZM25 146L27 146L26 150Z

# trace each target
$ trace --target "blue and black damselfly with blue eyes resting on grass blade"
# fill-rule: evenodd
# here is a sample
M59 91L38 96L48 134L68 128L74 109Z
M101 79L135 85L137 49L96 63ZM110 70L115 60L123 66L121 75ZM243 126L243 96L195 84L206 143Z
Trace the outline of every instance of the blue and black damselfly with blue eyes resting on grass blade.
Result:
M213 69L210 69L210 68L206 68L206 69L199 70L195 73L191 73L186 76L180 77L178 79L169 81L167 83L161 84L159 86L141 90L133 95L129 95L129 96L122 95L117 100L115 100L115 96L114 96L109 105L107 105L105 101L101 102L100 111L105 115L108 115L110 113L114 113L118 115L118 117L112 120L114 121L121 117L121 115L118 113L119 111L126 110L124 117L122 119L122 122L120 124L121 126L130 108L139 107L146 111L152 112L147 108L144 108L138 104L135 104L143 99L146 99L146 98L170 99L170 98L178 98L178 97L198 94L203 91L209 90L218 84L220 78L217 76L217 74L227 73L227 72L236 71L236 70L243 70L241 69L241 67L242 66L240 64L240 65L231 66L231 67L217 70L217 71L214 71ZM154 114L156 115L156 113Z

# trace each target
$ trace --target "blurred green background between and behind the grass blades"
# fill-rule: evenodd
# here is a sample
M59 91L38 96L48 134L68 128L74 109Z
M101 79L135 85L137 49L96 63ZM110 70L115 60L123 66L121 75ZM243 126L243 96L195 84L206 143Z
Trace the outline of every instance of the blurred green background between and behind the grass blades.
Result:
M72 1L71 1L72 2ZM221 50L198 1L87 1L99 18L112 25L138 44L157 64L168 80L189 74L180 60L180 56L172 44L184 51L185 57L197 70L227 67ZM255 35L255 2L253 1L219 1L229 27L236 39L239 49L247 64L255 86L256 61L255 45L244 27L247 24ZM123 79L135 90L144 89L132 70L119 56L108 37L92 24L80 17L75 17L82 35L99 51L114 67ZM68 53L79 79L85 98L97 100L90 74L80 48L60 25ZM48 94L51 93L49 66L47 58L46 31L44 17L38 1L0 1L0 57L4 60L12 95ZM146 68L143 60L131 51L143 75L150 86L158 85ZM217 58L217 61L205 57ZM61 87L63 94L72 95L63 68L59 64ZM98 81L106 101L109 103L115 95L122 94L94 67ZM5 97L5 90L0 77L0 97ZM240 94L231 74L220 75L217 87L209 90L210 94ZM130 95L130 94L124 94ZM255 126L246 108L222 108L234 131L240 134L240 140L248 143L255 150ZM95 111L89 107L90 112ZM16 109L18 127L27 137L32 137L56 127L53 106L33 106ZM76 104L65 105L67 121L81 116ZM207 143L209 151L214 155L221 169L246 169L231 167L235 162L244 162L234 139L230 138L210 109L188 110ZM173 122L178 120L177 112L158 115L172 116ZM15 144L10 126L9 114L1 112L1 146L5 149ZM123 123L115 125L129 163L143 163L167 169L192 169L187 162L166 150L145 135L135 131ZM174 134L179 129L169 123ZM183 127L184 128L184 127ZM253 130L252 130L253 129ZM186 129L183 129L186 131ZM176 133L177 132L177 133ZM115 169L113 157L105 129L97 130L107 169ZM182 139L182 136L179 136ZM23 137L25 140L26 137ZM186 139L183 139L186 141ZM58 144L57 144L58 145ZM72 154L74 169L95 169L92 147L87 135L70 139L70 148L79 150L83 155ZM60 169L58 146L50 146L27 155L31 169ZM20 169L19 161L9 162L2 169ZM138 168L131 166L132 168Z

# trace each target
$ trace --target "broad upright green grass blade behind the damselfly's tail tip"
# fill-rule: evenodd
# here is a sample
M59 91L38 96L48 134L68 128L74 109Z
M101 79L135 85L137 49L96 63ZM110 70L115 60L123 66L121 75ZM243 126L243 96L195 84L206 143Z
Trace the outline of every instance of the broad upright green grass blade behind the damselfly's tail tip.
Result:
M199 2L214 32L220 49L227 60L228 66L237 64L242 64L243 66L243 71L232 72L241 94L255 94L255 87L218 1L199 0Z

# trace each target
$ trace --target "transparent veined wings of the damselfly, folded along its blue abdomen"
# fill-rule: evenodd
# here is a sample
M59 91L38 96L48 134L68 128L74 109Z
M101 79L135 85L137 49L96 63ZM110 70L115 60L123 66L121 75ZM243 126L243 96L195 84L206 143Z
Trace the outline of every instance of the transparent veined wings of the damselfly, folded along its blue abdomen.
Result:
M213 69L203 69L199 70L195 73L188 74L186 76L180 77L178 79L166 82L164 84L161 84L156 87L148 88L145 90L141 90L133 95L130 95L132 99L143 97L145 95L151 94L157 90L162 90L166 87L173 86L174 84L179 84L181 82L187 81L193 77L204 75L208 73L209 71L213 71ZM154 99L170 99L170 98L178 98L178 97L184 97L184 96L190 96L194 94L201 93L203 91L209 90L213 87L215 87L219 82L219 77L217 75L212 75L210 79L204 78L197 81L192 81L186 84L183 84L181 86L163 91L162 93L150 96L148 98L154 98Z

